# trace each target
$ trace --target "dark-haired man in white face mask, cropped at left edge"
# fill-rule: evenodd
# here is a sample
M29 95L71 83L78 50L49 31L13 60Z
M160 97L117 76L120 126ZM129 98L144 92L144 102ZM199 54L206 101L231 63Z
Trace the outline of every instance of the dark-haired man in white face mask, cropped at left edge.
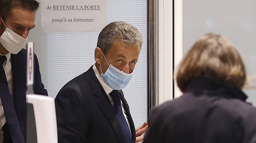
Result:
M35 27L36 0L0 0L0 143L25 143L26 53L23 46ZM35 94L48 95L34 54Z

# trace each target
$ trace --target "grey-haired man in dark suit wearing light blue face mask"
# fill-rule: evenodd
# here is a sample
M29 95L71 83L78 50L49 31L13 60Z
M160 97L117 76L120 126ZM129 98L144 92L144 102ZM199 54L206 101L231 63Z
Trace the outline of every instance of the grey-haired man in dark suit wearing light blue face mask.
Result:
M100 32L96 63L55 98L59 143L142 141L147 122L135 130L121 90L129 83L142 42L139 30L126 22L112 22Z

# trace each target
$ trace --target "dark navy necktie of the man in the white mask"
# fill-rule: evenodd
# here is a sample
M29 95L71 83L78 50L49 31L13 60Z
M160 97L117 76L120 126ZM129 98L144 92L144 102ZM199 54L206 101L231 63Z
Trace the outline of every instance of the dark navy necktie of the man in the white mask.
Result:
M6 56L0 56L0 97L13 143L24 143L25 141L20 130L19 121L14 109L14 104L5 76L5 70L3 68L3 63L5 62L5 60ZM6 132L4 130L4 134L5 133Z

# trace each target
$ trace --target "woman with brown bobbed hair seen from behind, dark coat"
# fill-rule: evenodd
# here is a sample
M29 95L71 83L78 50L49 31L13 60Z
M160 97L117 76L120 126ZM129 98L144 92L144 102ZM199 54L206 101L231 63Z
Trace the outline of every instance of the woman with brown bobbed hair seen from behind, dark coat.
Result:
M176 75L183 96L153 108L143 143L255 143L256 108L241 91L245 66L223 36L204 34Z

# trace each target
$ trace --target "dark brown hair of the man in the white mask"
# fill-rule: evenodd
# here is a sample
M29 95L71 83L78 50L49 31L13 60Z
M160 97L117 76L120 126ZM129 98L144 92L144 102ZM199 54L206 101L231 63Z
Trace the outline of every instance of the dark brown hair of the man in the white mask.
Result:
M37 11L39 2L36 0L0 0L0 16L5 19L10 16L14 7L20 6L28 11Z

